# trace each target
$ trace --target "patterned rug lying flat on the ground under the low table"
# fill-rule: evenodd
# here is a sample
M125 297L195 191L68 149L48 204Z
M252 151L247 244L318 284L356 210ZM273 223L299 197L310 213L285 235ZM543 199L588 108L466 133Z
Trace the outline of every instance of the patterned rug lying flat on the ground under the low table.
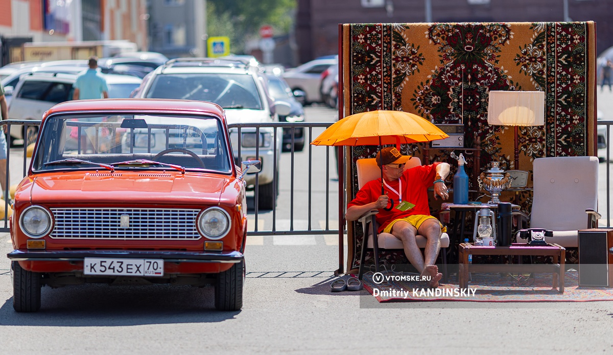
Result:
M364 275L365 289L379 302L471 301L471 302L590 302L612 301L613 287L578 286L577 271L566 271L564 293L552 287L552 275L536 274L535 278L517 279L498 274L472 274L465 295L456 292L457 283L441 283L439 296L427 294L423 283L416 281L373 282L372 273ZM375 291L377 289L378 291ZM394 295L381 291L396 290ZM402 291L401 291L402 290ZM405 293L408 291L408 293ZM405 298L405 295L407 296Z

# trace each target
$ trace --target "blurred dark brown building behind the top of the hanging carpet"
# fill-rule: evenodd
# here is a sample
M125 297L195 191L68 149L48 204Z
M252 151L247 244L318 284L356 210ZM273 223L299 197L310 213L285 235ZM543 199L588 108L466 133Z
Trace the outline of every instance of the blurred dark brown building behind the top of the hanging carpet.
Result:
M613 46L613 0L298 0L300 63L338 53L339 23L595 21L598 53Z

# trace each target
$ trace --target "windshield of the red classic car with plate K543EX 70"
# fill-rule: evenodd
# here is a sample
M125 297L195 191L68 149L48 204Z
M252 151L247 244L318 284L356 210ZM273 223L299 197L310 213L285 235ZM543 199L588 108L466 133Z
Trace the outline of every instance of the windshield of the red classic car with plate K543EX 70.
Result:
M55 115L41 128L33 171L212 170L231 173L221 120L156 114Z

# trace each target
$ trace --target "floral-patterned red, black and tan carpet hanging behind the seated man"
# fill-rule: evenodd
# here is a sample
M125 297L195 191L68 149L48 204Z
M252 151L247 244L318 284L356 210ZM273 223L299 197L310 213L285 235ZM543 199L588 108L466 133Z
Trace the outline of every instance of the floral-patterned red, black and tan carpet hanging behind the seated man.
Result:
M480 148L479 162L465 152L466 170L492 161L514 169L514 129L487 123L490 90L543 91L544 126L519 127L521 170L538 157L595 154L595 24L387 23L345 25L343 32L346 115L373 110L411 112L435 124L464 129L465 147ZM403 154L423 157L425 144L406 144ZM351 147L348 199L357 192L355 162L375 157L378 147ZM459 154L461 150L456 149ZM430 162L457 164L451 150L427 150ZM422 158L422 162L425 161ZM471 179L470 189L478 190ZM528 187L531 182L528 182ZM513 195L514 196L514 195ZM503 195L508 201L511 195ZM524 211L531 193L519 194ZM431 206L436 210L436 206ZM362 231L349 226L349 269L357 267ZM405 260L402 252L383 257Z

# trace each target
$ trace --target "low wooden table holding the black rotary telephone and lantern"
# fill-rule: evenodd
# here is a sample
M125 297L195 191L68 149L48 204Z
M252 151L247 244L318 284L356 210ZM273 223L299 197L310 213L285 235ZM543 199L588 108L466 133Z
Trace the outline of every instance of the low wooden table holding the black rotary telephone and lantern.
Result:
M510 255L510 256L552 256L554 263L552 265L539 265L539 271L551 271L554 276L553 287L555 289L558 284L558 276L560 278L558 290L560 294L564 293L564 273L565 273L565 257L566 250L558 244L547 244L544 246L529 246L527 244L513 243L511 246L479 246L472 243L460 244L460 272L459 282L461 289L468 289L468 275L471 272L483 273L498 273L498 272L535 272L535 265L480 265L468 264L468 255Z

